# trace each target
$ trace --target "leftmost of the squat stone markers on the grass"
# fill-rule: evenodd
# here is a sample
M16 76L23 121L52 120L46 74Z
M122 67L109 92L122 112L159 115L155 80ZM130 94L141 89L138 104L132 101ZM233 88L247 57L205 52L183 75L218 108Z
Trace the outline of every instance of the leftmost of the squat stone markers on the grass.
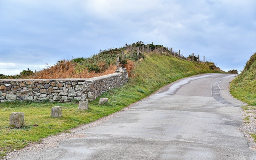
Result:
M10 113L9 124L12 127L20 128L24 126L24 112Z

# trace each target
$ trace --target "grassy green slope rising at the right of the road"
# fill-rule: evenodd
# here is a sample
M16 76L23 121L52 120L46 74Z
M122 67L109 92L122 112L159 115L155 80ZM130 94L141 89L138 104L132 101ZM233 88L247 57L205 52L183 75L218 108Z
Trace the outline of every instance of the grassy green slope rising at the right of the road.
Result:
M230 93L235 98L256 106L256 53L248 60L242 73L231 82Z

